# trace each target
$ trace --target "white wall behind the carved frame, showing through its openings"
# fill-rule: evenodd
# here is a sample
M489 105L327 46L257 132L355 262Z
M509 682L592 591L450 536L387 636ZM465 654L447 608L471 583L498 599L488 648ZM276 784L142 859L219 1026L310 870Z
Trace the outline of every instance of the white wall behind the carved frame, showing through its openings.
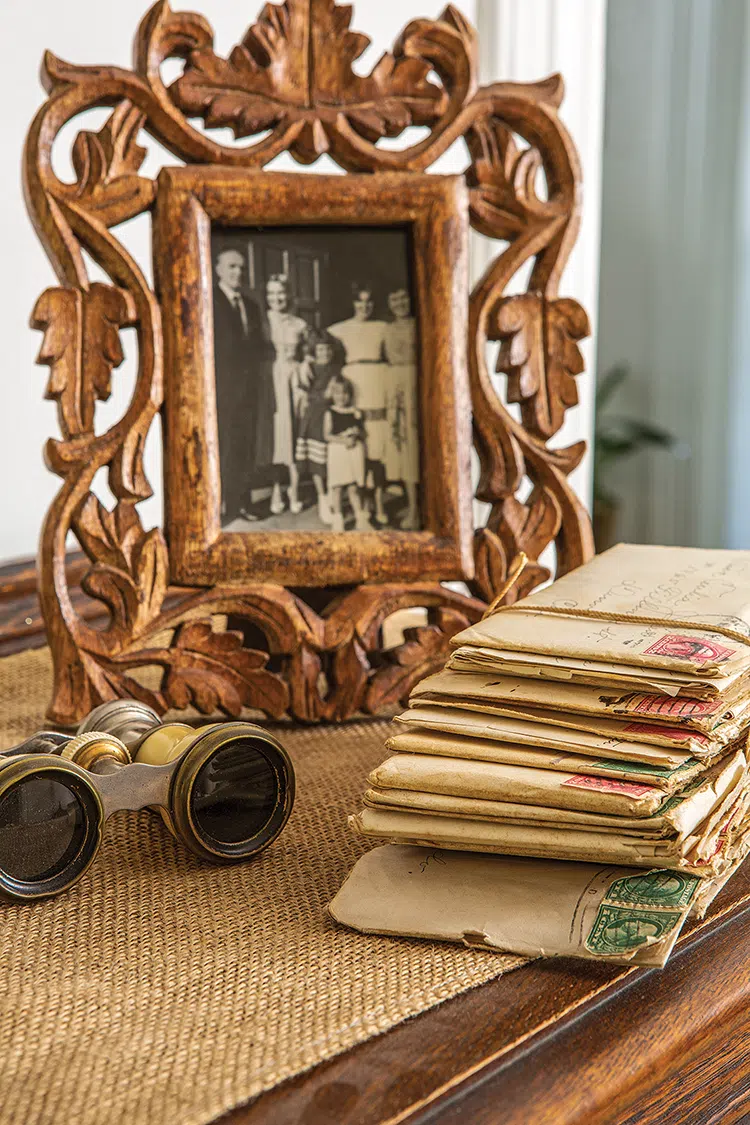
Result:
M202 0L173 3L202 10L216 30L216 48L226 53L244 33L254 4L237 0ZM260 7L260 4L259 4ZM485 81L514 78L535 79L561 69L568 97L562 117L581 146L585 178L585 223L579 246L563 278L562 294L579 299L590 314L596 312L598 213L600 165L600 107L604 73L604 12L606 0L461 0L458 7L478 20L482 42ZM353 26L373 39L369 60L390 46L403 25L416 16L436 16L444 0L358 0ZM0 273L0 339L3 370L0 376L0 560L33 555L46 507L57 488L57 478L44 467L42 447L57 434L55 405L43 400L47 369L35 366L40 334L28 327L28 317L39 292L55 284L53 271L26 216L20 189L20 155L28 125L44 93L38 66L45 48L75 63L115 63L128 66L133 34L145 10L144 0L37 0L35 3L0 8L0 27L6 52L7 89L12 91L3 109L2 151L8 160L0 181L0 236L4 269ZM367 58L363 60L367 63ZM359 65L359 64L358 64ZM81 127L80 119L67 144ZM88 126L91 127L91 126ZM100 127L98 124L93 127ZM151 142L148 142L151 143ZM457 163L459 161L459 163ZM61 169L70 166L69 153L61 154ZM297 165L295 165L297 166ZM462 166L449 154L441 171ZM317 165L316 170L319 168ZM146 174L157 169L150 158ZM150 259L148 223L139 217L126 234L128 246L144 263ZM127 343L127 334L126 334ZM576 440L590 433L594 375L593 345L587 345L587 375L579 379L581 410L566 426L563 439ZM99 407L102 421L118 416L132 386L132 357L115 370L114 393ZM146 524L161 520L159 426L152 428L146 468L157 495L141 512ZM97 482L102 497L106 485ZM588 470L578 470L578 488L588 494Z

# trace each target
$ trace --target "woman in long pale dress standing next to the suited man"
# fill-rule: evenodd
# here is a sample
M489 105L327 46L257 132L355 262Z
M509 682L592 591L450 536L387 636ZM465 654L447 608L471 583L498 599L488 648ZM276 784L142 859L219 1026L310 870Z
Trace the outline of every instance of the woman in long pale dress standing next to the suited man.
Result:
M289 310L289 290L283 273L272 273L265 286L269 331L275 351L273 360L273 465L286 466L289 472L289 510L299 514L302 505L297 494L299 471L295 460L296 420L305 392L306 367L301 363L307 336L307 322ZM275 479L271 494L271 512L284 510L281 480Z

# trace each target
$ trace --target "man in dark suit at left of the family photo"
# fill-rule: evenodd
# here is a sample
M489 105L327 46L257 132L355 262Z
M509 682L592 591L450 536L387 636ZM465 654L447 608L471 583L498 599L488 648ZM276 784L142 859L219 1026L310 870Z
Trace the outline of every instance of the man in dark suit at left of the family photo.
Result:
M260 309L242 295L244 256L224 249L214 262L214 364L222 472L222 524L246 510L251 478L260 467L259 422L268 414L269 332Z

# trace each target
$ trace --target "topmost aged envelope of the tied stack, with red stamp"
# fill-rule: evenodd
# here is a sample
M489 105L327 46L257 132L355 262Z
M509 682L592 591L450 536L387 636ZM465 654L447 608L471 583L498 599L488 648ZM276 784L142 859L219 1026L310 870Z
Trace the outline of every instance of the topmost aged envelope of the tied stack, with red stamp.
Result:
M750 551L620 544L457 645L732 676L750 668Z

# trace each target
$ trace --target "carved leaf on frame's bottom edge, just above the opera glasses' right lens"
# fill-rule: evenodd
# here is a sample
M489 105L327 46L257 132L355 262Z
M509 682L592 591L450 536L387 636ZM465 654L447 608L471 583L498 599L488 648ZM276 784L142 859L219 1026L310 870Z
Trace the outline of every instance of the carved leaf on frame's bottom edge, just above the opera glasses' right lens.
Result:
M214 632L209 621L178 630L164 693L172 706L238 716L254 708L280 718L289 706L284 682L265 670L268 654L243 648L242 634Z

